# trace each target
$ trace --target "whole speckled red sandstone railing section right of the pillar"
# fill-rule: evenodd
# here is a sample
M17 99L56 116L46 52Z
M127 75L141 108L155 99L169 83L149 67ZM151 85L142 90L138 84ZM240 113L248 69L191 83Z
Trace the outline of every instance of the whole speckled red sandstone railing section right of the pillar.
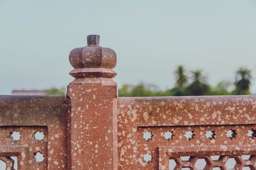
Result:
M255 113L255 96L119 97L118 167L169 169L173 159L176 169L196 169L198 158L221 155L204 169L227 169L229 157L235 169L255 169ZM239 162L241 155L252 157ZM180 162L181 156L193 160Z

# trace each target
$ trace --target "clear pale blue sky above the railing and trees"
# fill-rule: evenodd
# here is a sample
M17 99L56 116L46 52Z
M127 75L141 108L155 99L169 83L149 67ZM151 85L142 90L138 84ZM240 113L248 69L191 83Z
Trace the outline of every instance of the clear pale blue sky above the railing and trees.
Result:
M179 64L204 70L212 85L241 66L256 78L255 0L0 0L0 94L66 86L68 54L88 34L117 53L119 87L173 87Z

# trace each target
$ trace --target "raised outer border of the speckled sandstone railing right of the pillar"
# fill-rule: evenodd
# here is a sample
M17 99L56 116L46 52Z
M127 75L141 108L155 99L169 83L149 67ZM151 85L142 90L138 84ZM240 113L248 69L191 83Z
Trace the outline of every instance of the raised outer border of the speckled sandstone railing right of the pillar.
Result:
M138 129L141 127L158 129L186 127L189 129L195 126L227 127L227 125L232 125L237 129L243 129L240 128L243 125L256 124L255 109L255 96L119 97L118 168L159 169L158 147L170 146L156 143L147 146L141 143L142 141L138 138L141 135L138 134ZM159 143L162 139L163 136L154 136L154 140ZM229 142L237 145L232 140ZM156 148L151 151L153 161L150 164L143 160L143 153L140 152L148 147ZM254 146L251 149L255 150ZM144 153L146 152L147 150Z

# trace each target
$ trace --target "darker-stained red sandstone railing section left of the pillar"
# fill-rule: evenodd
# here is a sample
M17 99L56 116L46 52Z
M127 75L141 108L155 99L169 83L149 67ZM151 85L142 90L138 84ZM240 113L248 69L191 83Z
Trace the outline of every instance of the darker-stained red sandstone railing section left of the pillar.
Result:
M19 169L67 169L67 107L63 96L0 96L0 157ZM19 132L15 141L12 132ZM35 133L44 139L36 140ZM36 162L35 154L44 156ZM9 161L7 161L9 160Z

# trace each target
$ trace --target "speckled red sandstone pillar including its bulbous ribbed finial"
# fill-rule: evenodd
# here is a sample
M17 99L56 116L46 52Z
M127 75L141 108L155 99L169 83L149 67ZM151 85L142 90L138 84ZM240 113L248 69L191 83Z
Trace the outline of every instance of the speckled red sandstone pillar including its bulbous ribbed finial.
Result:
M99 36L75 48L69 61L75 79L68 85L70 169L117 169L116 53L99 46Z

